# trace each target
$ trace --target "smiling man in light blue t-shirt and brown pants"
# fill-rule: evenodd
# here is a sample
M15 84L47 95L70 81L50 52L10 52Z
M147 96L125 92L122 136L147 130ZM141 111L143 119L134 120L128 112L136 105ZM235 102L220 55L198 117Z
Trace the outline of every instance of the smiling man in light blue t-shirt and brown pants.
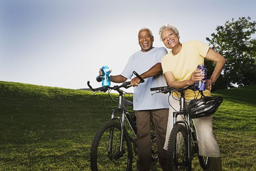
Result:
M159 93L152 96L150 88L167 86L161 67L161 59L167 54L167 50L164 47L153 47L153 41L154 37L150 29L140 29L138 43L141 49L129 58L120 75L111 76L111 82L125 82L132 78L134 70L145 79L141 84L138 77L131 80L131 85L134 87L133 110L137 123L137 169L139 171L149 171L151 165L150 115L155 122L159 163L163 171L166 170L166 151L163 145L169 110L168 95ZM99 75L102 75L101 70Z

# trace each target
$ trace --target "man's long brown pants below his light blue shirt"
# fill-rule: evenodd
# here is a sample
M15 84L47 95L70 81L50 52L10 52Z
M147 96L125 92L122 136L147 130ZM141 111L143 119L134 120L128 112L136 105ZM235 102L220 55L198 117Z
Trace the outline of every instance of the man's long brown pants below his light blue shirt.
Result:
M150 115L153 116L155 122L159 163L163 171L166 171L166 150L163 149L163 146L165 143L168 111L169 109L135 111L138 145L137 169L139 171L149 171L151 165Z

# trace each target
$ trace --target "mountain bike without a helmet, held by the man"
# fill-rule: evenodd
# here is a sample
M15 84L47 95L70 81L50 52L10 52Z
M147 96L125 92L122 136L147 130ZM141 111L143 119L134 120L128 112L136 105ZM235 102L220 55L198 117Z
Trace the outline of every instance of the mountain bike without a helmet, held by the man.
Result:
M144 80L134 71L133 72L140 82ZM111 119L103 123L95 133L91 144L90 163L92 171L131 171L132 170L132 145L135 154L137 154L136 146L136 116L134 113L128 113L126 105L133 106L131 101L126 98L128 93L121 90L121 88L128 89L131 87L130 81L124 82L122 85L114 87L104 86L93 89L90 82L88 86L93 93L108 92L109 97L116 101L117 109L111 111ZM118 99L111 97L110 92L114 90L119 93ZM126 97L126 95L128 95ZM116 116L117 113L121 114L120 117ZM126 121L128 122L135 138L131 138L126 130ZM158 157L156 136L154 131L154 122L151 117L151 159L155 161Z

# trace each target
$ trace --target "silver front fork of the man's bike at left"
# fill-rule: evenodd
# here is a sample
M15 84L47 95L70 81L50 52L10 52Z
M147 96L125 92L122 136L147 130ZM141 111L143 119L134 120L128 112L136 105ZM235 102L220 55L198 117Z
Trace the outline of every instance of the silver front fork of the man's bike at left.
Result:
M121 124L121 136L120 136L120 144L119 144L119 153L118 156L116 157L122 157L123 156L123 145L124 145L124 118L125 118L125 111L124 109L122 110L122 117L115 117L115 113L119 111L117 110L113 110L112 114L111 114L111 120L116 120L118 119L120 121ZM114 135L114 128L110 128L109 130L109 144L108 144L108 157L111 158L112 156L112 145L113 145L113 135Z

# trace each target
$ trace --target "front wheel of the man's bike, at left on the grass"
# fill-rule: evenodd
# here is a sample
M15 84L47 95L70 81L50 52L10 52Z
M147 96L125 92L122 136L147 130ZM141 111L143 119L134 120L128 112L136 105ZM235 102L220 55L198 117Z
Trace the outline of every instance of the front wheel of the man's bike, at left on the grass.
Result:
M120 152L121 125L105 122L97 130L91 145L92 171L130 171L132 169L132 147L126 130Z

